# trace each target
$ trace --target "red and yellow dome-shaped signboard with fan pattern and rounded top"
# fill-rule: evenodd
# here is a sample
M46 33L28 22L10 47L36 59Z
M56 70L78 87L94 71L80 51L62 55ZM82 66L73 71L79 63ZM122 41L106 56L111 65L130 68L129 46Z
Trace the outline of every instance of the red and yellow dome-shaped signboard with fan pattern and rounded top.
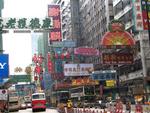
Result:
M100 42L102 48L119 49L135 46L135 40L130 33L125 31L125 26L120 21L112 21L109 25L109 30Z

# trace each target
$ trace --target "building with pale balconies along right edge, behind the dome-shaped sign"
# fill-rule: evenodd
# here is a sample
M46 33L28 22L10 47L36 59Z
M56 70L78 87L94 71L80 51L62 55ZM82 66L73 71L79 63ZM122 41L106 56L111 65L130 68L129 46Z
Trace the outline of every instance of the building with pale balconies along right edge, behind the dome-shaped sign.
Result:
M143 25L139 24L140 21L142 22L140 8L141 0L113 0L114 19L121 20L125 24L125 29L132 33L136 40L134 63L118 66L120 85L128 87L128 92L121 91L122 95L146 96L150 92L149 35L146 30L143 30ZM138 16L141 18L136 18Z

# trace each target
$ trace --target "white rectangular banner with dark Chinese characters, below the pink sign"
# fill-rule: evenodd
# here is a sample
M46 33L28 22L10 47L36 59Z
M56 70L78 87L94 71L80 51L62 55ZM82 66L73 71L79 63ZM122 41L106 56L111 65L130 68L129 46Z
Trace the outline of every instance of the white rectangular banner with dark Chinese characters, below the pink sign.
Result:
M64 64L64 76L89 76L93 64Z

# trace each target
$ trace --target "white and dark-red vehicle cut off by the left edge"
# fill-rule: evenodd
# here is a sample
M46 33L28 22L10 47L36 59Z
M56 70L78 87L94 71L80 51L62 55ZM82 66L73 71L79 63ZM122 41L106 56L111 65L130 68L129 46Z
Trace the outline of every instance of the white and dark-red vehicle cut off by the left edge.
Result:
M0 112L6 113L9 111L8 108L8 90L0 89Z

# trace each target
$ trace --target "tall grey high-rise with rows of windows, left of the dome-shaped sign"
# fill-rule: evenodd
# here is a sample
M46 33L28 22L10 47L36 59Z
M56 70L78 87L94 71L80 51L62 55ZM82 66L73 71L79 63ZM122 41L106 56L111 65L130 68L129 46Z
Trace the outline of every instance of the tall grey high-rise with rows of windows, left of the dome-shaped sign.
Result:
M79 0L79 17L81 37L78 39L78 46L93 47L101 51L100 40L113 20L112 0ZM100 57L89 57L85 60L93 63L96 70L101 68L100 61Z

